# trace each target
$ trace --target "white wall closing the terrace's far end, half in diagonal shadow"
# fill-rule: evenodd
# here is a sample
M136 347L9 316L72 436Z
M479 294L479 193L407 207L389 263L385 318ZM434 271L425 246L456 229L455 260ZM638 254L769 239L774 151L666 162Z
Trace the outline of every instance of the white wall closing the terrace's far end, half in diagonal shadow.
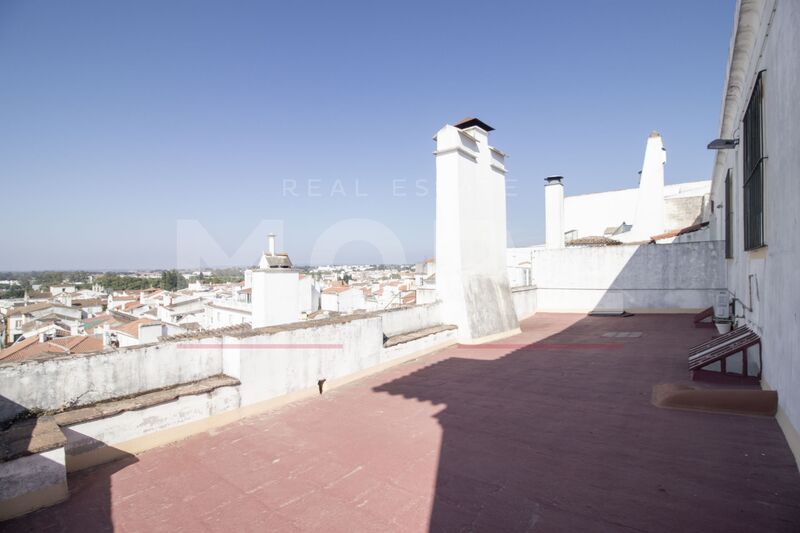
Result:
M533 250L540 311L695 311L725 288L721 241Z

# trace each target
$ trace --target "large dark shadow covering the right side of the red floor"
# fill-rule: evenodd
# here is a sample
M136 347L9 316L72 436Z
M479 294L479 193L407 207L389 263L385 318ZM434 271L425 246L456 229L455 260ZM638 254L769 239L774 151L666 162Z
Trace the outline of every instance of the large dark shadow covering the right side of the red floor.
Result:
M527 326L374 388L446 406L432 531L798 531L773 419L650 404L652 385L688 380L708 330L688 315Z

